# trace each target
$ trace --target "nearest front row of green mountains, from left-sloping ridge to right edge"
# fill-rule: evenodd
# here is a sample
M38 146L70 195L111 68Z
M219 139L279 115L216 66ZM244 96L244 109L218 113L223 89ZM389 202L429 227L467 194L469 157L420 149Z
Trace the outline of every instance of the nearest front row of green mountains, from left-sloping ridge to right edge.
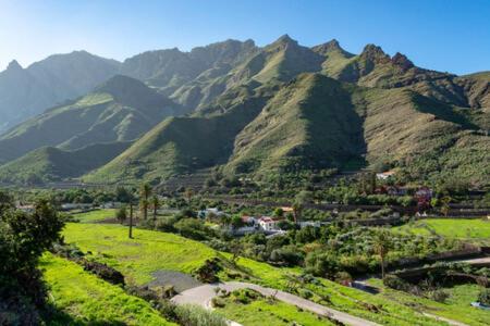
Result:
M267 178L366 161L377 170L402 167L413 179L444 175L486 183L490 137L457 106L411 89L365 88L319 73L274 89L267 96L242 91L240 100L223 96L217 106L229 109L220 113L208 108L209 115L167 120L85 179L158 181L212 166Z

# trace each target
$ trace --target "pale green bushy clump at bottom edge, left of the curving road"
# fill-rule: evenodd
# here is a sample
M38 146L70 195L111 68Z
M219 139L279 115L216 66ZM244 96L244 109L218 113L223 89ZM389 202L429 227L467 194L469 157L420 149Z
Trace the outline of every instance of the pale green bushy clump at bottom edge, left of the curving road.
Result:
M175 308L179 324L182 326L226 326L226 319L199 305L184 304Z

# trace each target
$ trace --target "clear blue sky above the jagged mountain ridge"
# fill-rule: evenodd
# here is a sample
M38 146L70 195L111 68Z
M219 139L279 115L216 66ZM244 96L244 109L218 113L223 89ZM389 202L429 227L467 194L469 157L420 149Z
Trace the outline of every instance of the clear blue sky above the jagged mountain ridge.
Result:
M376 43L456 74L490 70L489 0L0 0L0 70L73 50L124 60L283 34L304 46L336 38L354 53Z

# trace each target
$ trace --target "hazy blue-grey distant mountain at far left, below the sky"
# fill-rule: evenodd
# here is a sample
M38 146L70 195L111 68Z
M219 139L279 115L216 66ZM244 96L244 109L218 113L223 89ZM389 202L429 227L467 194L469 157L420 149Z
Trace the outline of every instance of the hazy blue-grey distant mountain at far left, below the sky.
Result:
M0 73L0 133L54 104L79 97L119 71L120 63L85 51L51 55Z

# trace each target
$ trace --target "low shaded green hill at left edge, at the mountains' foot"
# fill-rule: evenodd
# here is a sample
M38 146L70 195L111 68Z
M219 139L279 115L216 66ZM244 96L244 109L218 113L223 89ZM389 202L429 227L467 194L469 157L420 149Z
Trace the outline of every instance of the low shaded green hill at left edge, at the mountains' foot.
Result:
M107 164L130 146L128 141L97 143L73 151L44 147L0 166L0 180L40 184L79 177Z

